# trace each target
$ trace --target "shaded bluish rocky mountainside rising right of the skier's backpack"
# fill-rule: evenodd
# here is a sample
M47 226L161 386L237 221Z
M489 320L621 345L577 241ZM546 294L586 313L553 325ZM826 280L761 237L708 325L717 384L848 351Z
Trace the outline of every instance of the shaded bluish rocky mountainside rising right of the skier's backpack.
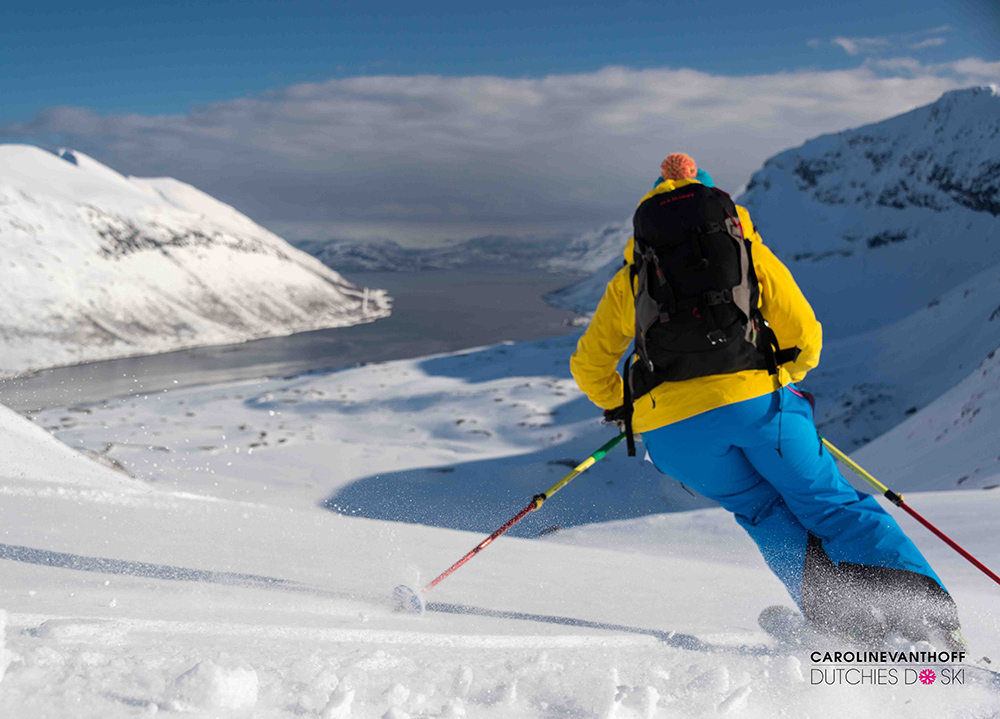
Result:
M810 140L739 201L828 337L904 317L1000 263L1000 89Z

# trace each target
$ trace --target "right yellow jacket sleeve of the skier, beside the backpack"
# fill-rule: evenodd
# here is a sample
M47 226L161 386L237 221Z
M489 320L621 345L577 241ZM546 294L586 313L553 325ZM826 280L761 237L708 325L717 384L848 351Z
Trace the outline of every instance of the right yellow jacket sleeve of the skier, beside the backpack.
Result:
M749 220L749 215L746 218ZM791 375L792 382L801 382L806 373L819 364L823 327L795 284L792 273L764 244L756 229L752 229L752 235L753 264L761 287L760 310L782 349L798 347L802 350L798 359L782 365Z

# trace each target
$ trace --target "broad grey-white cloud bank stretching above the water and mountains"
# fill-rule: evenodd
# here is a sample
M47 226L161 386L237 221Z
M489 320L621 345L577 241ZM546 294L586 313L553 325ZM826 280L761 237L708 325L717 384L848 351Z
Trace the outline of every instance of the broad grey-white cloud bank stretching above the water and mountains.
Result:
M56 107L0 136L57 138L124 172L178 177L290 238L413 243L620 219L678 150L735 190L810 137L998 81L1000 63L912 58L751 76L355 77L176 116Z

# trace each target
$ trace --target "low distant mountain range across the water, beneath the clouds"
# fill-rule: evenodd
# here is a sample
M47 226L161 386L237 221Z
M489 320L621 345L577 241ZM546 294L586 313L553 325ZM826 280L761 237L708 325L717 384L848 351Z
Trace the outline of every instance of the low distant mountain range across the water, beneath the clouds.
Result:
M344 272L451 270L489 266L582 274L593 268L579 238L474 237L444 247L403 247L392 240L302 240L296 247Z

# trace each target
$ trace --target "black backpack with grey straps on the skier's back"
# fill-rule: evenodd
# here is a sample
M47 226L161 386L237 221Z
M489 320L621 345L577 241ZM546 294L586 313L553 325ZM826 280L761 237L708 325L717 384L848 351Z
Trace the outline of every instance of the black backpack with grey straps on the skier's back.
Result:
M635 346L624 377L630 456L635 398L664 382L748 369L774 374L799 353L778 347L758 309L752 243L729 195L685 185L648 198L632 224Z

